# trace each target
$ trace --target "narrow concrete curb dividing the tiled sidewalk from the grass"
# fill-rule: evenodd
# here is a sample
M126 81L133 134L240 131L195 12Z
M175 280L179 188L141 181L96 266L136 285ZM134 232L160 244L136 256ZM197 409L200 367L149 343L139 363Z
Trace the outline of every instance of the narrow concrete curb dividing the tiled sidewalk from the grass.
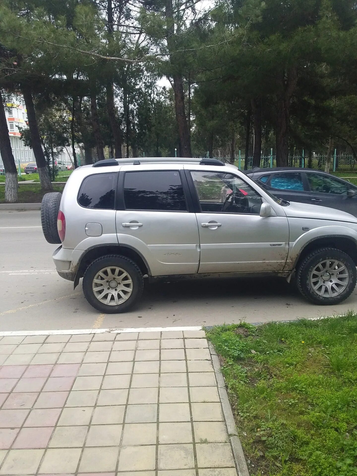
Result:
M237 432L236 423L234 421L232 408L230 407L230 403L228 400L228 394L226 390L226 385L224 382L223 375L220 371L220 364L218 355L212 346L212 344L208 341L209 352L212 357L213 368L216 374L216 379L218 383L218 393L219 398L221 400L223 415L226 420L228 436L230 440L230 445L232 448L234 460L236 462L236 469L238 472L238 476L249 476L248 466L246 462L246 458L244 456L242 444L240 443L240 439Z

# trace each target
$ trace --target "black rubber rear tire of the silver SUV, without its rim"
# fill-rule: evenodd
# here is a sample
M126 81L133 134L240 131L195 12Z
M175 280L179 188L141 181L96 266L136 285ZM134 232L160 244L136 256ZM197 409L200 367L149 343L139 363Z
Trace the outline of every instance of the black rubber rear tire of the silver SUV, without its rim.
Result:
M116 266L124 269L129 274L133 283L133 290L129 298L122 304L104 304L97 299L93 292L93 279L101 269ZM144 280L140 268L131 259L120 255L105 255L95 259L86 269L82 287L84 296L91 306L105 314L118 314L127 311L139 301L144 288Z

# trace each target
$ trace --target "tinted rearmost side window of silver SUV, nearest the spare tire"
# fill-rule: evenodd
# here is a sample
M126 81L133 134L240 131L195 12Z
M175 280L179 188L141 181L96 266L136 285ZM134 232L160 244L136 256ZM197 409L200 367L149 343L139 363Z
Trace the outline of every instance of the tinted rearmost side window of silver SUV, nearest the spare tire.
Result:
M115 208L117 174L96 174L86 177L79 189L78 203L85 208Z

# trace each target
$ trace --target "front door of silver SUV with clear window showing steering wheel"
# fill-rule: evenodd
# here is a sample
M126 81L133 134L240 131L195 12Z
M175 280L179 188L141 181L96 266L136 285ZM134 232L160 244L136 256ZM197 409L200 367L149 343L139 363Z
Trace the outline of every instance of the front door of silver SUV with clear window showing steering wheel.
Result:
M191 169L188 179L199 207L199 273L284 268L289 241L284 212L260 217L262 198L233 173ZM231 192L222 194L227 189Z

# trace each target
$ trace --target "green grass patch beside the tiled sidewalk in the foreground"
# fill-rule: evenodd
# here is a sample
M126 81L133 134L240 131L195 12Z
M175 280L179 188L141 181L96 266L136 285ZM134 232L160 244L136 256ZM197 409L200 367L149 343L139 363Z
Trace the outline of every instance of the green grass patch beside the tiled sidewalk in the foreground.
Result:
M357 475L357 315L207 336L251 476Z

